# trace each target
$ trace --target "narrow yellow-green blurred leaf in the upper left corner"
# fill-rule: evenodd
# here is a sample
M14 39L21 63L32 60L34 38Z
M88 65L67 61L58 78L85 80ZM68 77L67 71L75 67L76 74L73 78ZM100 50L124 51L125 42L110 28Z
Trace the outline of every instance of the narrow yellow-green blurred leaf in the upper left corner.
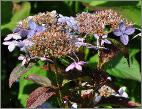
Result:
M13 17L11 18L11 21L5 25L1 26L1 30L8 28L10 30L13 30L20 20L23 20L27 16L29 16L31 10L31 4L29 2L23 2L22 3L22 8L15 12ZM12 10L11 10L12 11Z

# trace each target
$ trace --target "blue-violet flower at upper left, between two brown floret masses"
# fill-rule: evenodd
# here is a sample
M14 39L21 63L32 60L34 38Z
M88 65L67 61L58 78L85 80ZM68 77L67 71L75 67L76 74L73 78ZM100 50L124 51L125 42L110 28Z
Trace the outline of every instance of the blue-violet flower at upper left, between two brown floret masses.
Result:
M45 30L45 27L38 26L33 20L29 20L28 25L29 25L29 32L27 35L28 38L32 38L32 36L35 35L36 33L43 32Z

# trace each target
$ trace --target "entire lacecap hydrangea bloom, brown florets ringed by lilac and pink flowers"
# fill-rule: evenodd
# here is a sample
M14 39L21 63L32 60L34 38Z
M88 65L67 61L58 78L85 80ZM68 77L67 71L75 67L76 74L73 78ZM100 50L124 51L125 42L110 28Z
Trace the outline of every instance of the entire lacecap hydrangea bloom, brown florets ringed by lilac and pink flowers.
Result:
M109 25L110 31L120 41L127 45L129 35L135 32L132 23L122 18L111 9L97 10L93 13L82 12L75 17L67 17L56 11L38 13L17 23L13 33L8 34L3 44L12 52L16 47L22 54L22 66L32 59L52 61L53 58L67 56L79 51L80 47L105 48L104 44L111 44L107 39L108 32L104 31ZM86 42L86 37L95 37L96 44ZM65 71L76 68L82 70L84 61L74 61Z

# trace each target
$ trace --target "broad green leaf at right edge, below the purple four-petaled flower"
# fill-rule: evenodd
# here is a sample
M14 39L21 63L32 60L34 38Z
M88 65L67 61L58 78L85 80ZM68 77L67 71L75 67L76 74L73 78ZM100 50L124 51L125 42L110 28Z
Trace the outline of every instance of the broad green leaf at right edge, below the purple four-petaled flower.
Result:
M134 57L130 59L129 67L127 60L122 55L118 55L117 58L105 65L105 69L110 75L115 77L141 81L140 66Z

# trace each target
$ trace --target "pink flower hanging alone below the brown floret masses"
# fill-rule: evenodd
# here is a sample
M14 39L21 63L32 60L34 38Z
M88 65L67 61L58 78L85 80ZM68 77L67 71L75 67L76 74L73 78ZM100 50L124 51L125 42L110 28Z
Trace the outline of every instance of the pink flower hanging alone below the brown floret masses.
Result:
M79 62L73 62L72 64L70 64L66 69L65 71L68 72L69 70L72 70L74 68L76 68L77 70L79 71L82 71L82 66L81 65L84 65L86 64L86 62L84 61L79 61Z

